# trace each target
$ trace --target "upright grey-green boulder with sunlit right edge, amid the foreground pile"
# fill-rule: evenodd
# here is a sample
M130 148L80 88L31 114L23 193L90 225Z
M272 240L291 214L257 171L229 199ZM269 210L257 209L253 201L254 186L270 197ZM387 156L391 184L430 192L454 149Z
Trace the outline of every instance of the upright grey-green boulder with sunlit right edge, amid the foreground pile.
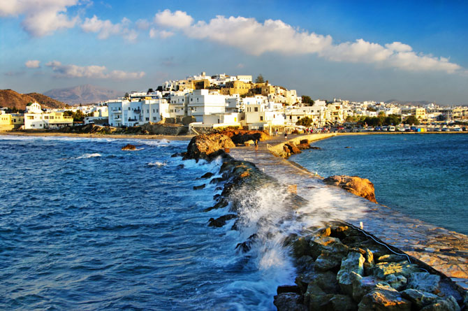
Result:
M356 274L364 274L364 256L358 252L349 252L348 256L342 260L342 265L337 274L339 287L345 294L353 295L353 280Z

